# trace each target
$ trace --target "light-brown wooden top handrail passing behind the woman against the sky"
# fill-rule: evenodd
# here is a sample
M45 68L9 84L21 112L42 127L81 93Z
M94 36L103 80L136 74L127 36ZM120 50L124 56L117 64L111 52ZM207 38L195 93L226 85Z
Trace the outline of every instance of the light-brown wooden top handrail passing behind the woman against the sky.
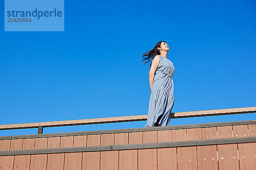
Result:
M207 111L177 112L177 113L172 113L171 118L216 116L216 115L225 115L225 114L241 114L241 113L255 113L255 112L256 112L256 107L230 108L230 109L218 109L218 110L207 110ZM53 121L53 122L11 124L11 125L0 125L0 130L38 128L39 126L59 127L59 126L92 125L92 124L117 123L117 122L134 122L134 121L145 121L147 120L147 117L148 115L136 115L136 116L120 116L120 117L107 117L107 118L96 118L96 119L79 119L79 120L65 120L65 121Z

